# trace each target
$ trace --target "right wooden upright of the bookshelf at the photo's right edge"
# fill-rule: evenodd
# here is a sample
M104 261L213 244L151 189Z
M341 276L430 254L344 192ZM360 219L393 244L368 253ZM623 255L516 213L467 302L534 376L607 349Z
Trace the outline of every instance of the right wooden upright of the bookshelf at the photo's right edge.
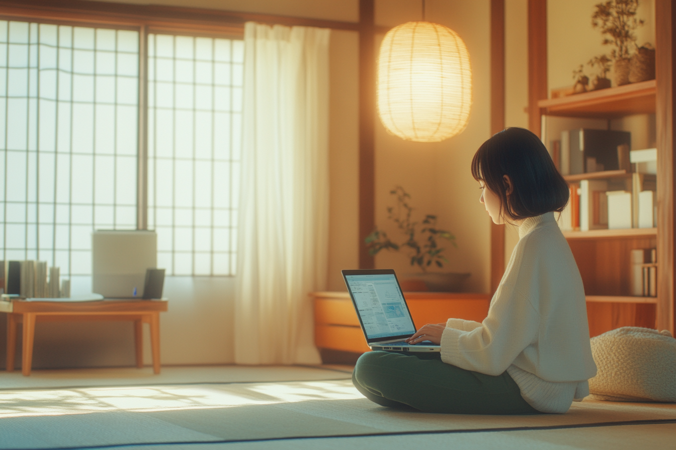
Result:
M676 198L676 159L674 150L676 46L673 43L676 7L671 0L655 1L655 78L657 132L657 306L656 327L674 333L674 201Z

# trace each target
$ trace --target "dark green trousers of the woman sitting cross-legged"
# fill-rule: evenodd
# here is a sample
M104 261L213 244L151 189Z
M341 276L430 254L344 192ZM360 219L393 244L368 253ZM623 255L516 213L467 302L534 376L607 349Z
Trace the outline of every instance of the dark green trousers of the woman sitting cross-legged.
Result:
M507 372L491 376L441 361L441 354L369 351L352 383L382 406L448 414L539 414Z

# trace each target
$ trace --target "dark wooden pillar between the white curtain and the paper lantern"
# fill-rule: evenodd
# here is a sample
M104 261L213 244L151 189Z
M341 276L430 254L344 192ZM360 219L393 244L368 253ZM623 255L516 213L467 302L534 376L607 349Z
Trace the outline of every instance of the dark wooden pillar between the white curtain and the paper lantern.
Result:
M359 268L373 269L364 238L375 227L376 57L374 0L359 0Z

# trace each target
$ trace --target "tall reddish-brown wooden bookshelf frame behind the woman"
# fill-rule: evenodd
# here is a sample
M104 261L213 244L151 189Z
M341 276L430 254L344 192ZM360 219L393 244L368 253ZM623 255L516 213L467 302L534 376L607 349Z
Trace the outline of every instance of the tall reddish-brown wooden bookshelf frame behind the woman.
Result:
M676 36L676 5L655 2L656 79L608 89L548 99L546 41L565 36L548 36L546 0L531 0L529 9L529 128L541 134L542 116L619 119L630 115L654 114L655 147L660 163L655 185L657 222L648 229L600 229L566 231L571 252L580 269L585 293L589 333L596 336L619 327L649 327L674 331L676 322L676 76L673 65ZM544 81L543 81L544 80ZM631 127L630 124L625 124ZM627 179L631 173L606 171L566 176L582 179ZM659 232L658 232L659 230ZM631 297L631 250L657 249L657 297Z

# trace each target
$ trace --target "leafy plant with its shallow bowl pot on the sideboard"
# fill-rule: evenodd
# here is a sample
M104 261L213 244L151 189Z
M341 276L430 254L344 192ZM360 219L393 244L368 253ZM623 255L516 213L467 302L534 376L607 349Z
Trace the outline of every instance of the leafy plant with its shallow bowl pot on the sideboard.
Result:
M432 267L441 269L444 264L448 264L448 259L443 255L445 248L439 246L438 240L447 240L454 247L457 247L456 237L450 231L437 228L437 216L435 215L425 215L425 219L420 223L413 221L414 208L408 203L411 196L402 186L396 186L389 193L396 197L397 206L387 207L387 219L397 225L397 229L404 235L404 240L397 244L390 239L385 231L376 227L364 240L368 253L375 256L385 249L392 251L406 249L409 253L411 266L418 268L421 272L415 275L416 278L422 279L427 289L431 291L457 291L460 288L460 283L469 277L468 273L428 272L428 269ZM419 227L420 230L418 231ZM402 282L402 284L404 283Z

